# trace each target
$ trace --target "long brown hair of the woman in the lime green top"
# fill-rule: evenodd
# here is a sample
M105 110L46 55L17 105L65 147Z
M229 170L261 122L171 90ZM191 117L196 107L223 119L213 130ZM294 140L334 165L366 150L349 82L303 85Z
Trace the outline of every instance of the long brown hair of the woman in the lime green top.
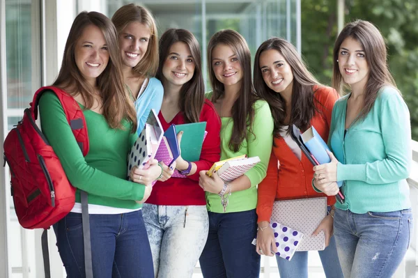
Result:
M233 129L229 148L237 152L244 139L247 139L248 133L252 133L252 124L254 123L254 102L257 97L251 80L251 52L245 38L237 31L230 29L222 30L210 38L208 44L208 71L210 85L213 89L212 102L216 102L225 93L225 87L215 76L212 68L212 52L219 44L231 47L237 56L242 68L242 85L238 93L238 99L235 100L231 114L233 118Z

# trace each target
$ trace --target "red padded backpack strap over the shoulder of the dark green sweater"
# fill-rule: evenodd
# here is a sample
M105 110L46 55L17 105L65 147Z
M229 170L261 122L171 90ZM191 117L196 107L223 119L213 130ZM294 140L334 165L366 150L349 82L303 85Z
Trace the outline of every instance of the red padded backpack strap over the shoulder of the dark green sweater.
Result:
M86 156L89 149L86 118L84 118L83 110L70 94L55 86L45 86L39 88L35 95L33 95L33 101L31 102L31 112L33 113L33 118L35 120L38 118L39 100L45 91L53 91L58 97L77 144L79 144L83 155Z

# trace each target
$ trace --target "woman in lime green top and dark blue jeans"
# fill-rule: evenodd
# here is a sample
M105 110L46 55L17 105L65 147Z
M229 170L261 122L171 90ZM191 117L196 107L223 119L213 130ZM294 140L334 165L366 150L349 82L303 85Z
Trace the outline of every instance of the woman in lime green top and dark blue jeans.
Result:
M209 234L200 258L203 277L258 277L260 255L251 241L257 233L256 185L265 177L272 150L273 119L268 103L258 100L251 82L251 54L236 31L215 33L208 45L207 97L222 120L221 160L260 157L244 175L224 183L200 172L206 191Z

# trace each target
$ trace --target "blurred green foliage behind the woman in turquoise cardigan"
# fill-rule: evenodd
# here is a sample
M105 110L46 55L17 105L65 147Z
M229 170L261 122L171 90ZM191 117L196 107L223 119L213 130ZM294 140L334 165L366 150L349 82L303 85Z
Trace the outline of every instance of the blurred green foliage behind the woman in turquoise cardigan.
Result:
M418 1L346 0L345 22L373 22L385 37L389 68L408 104L412 139L418 140ZM302 54L324 84L332 77L336 0L302 1Z

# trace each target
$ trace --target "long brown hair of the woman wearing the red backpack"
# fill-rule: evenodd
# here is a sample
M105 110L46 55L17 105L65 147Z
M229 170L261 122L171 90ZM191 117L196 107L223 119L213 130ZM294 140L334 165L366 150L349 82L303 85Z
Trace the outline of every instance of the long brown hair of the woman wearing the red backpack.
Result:
M105 15L97 12L82 12L75 17L67 43L65 43L61 70L53 85L65 89L73 96L80 93L86 109L91 109L93 106L95 88L86 82L75 63L75 47L80 33L90 25L97 26L102 31L109 51L107 67L96 79L96 85L103 101L103 116L111 128L122 129L123 120L126 119L132 123L131 131L135 132L137 130L137 114L123 85L118 34L114 24Z

